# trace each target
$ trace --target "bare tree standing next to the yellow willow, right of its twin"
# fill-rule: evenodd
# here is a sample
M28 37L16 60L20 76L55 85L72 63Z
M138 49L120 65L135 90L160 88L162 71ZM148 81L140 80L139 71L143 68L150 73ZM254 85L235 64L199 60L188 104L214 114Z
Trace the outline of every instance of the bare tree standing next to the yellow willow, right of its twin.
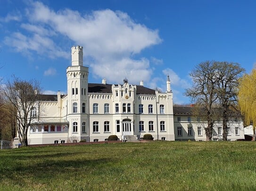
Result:
M221 107L223 108L223 141L227 141L228 135L228 112L232 108L237 108L237 95L239 78L245 72L239 63L234 62L215 62L216 70L215 76L218 80L217 83L217 96ZM231 108L232 107L232 108Z

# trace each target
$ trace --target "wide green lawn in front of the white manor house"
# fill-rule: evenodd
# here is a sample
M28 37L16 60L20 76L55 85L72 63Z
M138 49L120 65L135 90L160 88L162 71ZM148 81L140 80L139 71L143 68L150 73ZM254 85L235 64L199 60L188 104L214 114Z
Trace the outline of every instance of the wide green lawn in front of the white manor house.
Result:
M255 142L149 142L0 151L0 190L255 191Z

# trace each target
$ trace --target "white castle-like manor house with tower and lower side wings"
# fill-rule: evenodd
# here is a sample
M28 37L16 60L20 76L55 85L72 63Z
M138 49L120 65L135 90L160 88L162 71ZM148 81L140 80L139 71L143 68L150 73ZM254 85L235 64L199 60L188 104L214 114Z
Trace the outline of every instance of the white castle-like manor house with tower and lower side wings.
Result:
M190 107L173 107L169 76L166 91L158 92L140 85L88 83L88 67L83 66L83 47L71 48L72 64L66 69L67 94L41 95L33 108L33 123L28 144L104 141L110 135L120 140L143 138L155 140L206 140L203 123L193 120ZM228 139L244 138L243 122L230 120ZM213 140L222 140L220 126L215 126Z

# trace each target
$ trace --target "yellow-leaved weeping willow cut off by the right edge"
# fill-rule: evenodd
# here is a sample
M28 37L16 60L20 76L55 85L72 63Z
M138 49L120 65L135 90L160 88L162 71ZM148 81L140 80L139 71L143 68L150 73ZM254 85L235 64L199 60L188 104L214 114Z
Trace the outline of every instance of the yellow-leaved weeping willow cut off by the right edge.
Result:
M245 125L253 125L253 140L256 140L256 69L239 80L238 103Z

